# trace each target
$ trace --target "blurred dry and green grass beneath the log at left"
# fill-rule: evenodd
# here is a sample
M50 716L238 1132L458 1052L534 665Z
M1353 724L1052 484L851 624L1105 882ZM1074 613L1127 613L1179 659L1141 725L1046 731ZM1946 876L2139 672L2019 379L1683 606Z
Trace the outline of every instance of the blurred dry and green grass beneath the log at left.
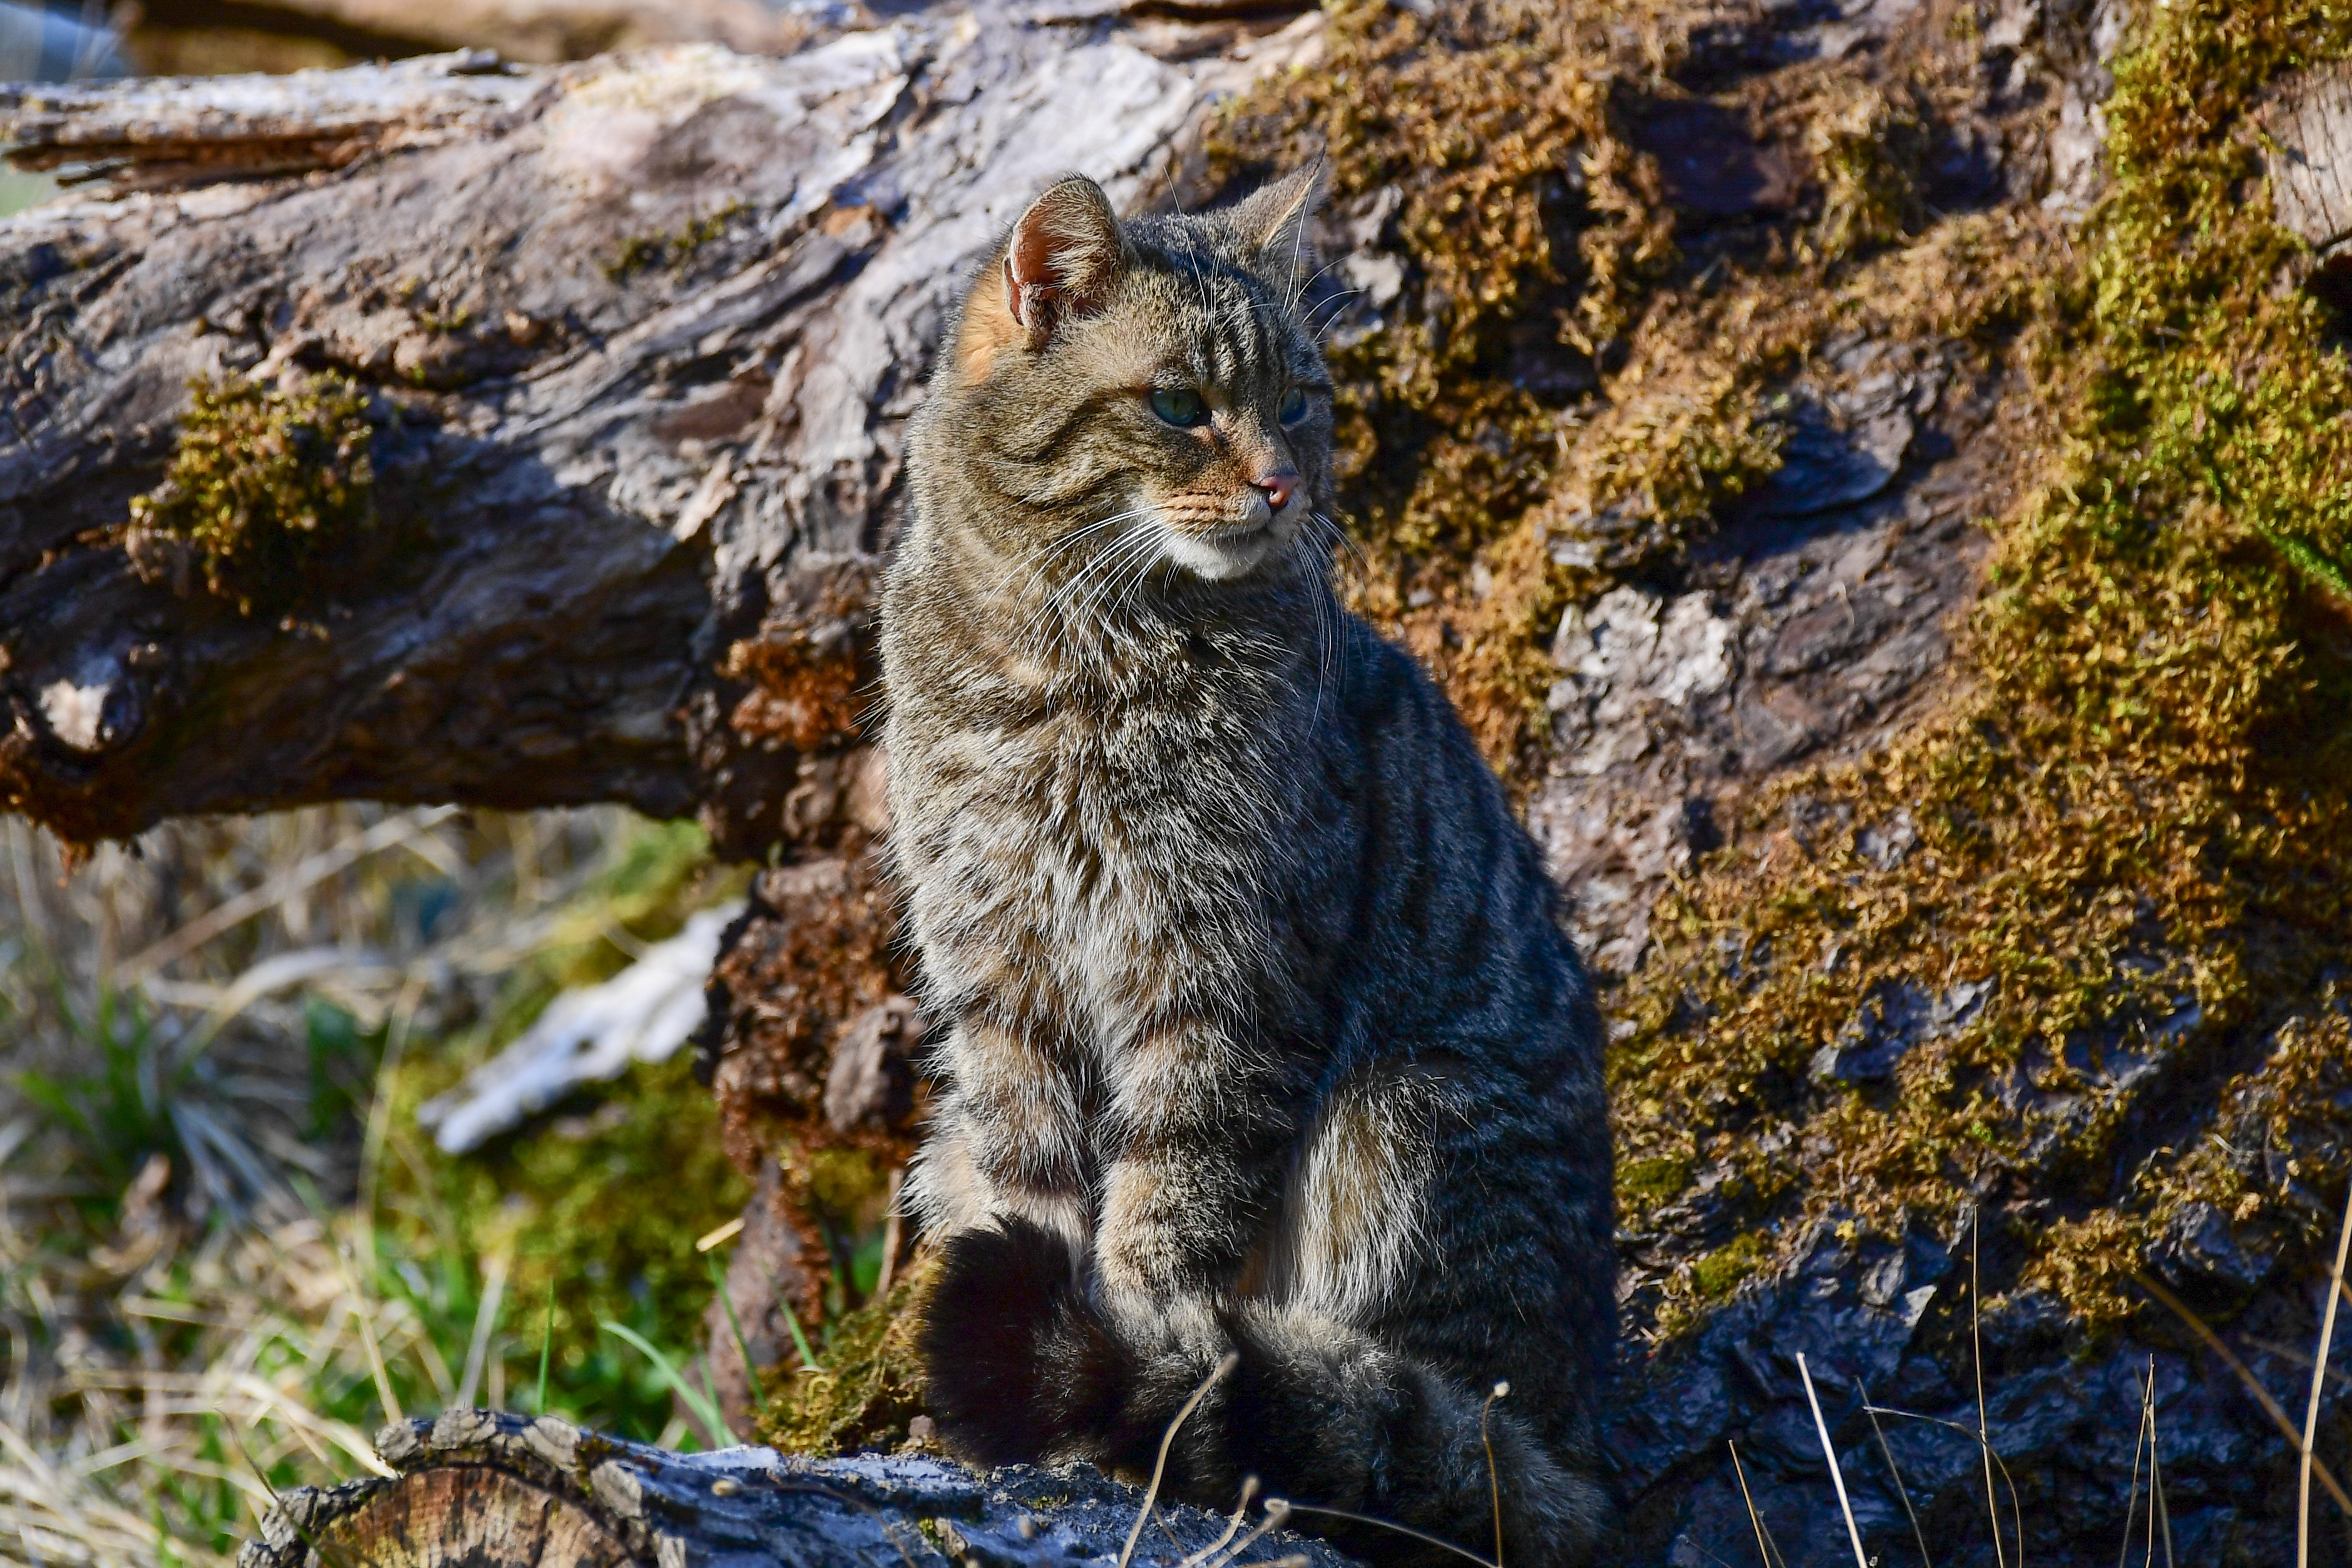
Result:
M564 1208L609 1199L579 1166L675 1171L640 1145L710 1145L715 1112L640 1074L659 1114L508 1140L485 1182L409 1110L724 891L699 865L623 811L336 806L160 827L66 875L0 820L0 1559L226 1563L273 1488L374 1469L386 1413L529 1406L546 1286L612 1255ZM689 1197L684 1239L626 1239L635 1272L557 1314L555 1408L677 1441L593 1324L691 1345L706 1279L630 1298L649 1248L691 1258L741 1204Z

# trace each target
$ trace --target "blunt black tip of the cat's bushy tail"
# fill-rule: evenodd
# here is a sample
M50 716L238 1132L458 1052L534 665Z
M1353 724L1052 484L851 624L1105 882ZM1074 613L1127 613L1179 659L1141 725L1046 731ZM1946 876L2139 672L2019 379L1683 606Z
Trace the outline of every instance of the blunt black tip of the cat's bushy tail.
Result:
M974 1465L1091 1458L1134 1382L1070 1244L1014 1218L941 1246L922 1361L938 1434Z

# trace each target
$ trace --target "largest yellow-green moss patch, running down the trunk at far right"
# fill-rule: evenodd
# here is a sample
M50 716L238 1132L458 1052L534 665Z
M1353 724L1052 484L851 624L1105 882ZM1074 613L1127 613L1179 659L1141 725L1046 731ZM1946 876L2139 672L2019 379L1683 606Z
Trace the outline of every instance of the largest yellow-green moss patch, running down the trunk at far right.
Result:
M2307 1255L2331 1222L2352 1175L2328 978L2352 952L2352 637L2328 569L2352 557L2352 371L2296 287L2307 259L2267 216L2246 115L2281 71L2347 52L2345 5L2147 14L2074 261L2044 252L2046 282L1985 296L2023 329L2049 456L1992 520L1971 684L1884 755L1759 802L1736 860L1658 910L1618 1001L1621 1135L1635 1164L1722 1166L1733 1222L1896 1234L2004 1190L2037 1215L2011 1220L2018 1276L2093 1326L2138 1309L2129 1281L2190 1204L2256 1253ZM1915 846L1858 856L1896 809ZM1809 1081L1889 987L1957 983L1990 994L1891 1091ZM2122 1086L2114 1058L2150 1051L2164 1088ZM2218 1105L2173 1088L2201 1081ZM2119 1171L2136 1119L2161 1143ZM1628 1201L1639 1225L1649 1197ZM1700 1269L1661 1291L1661 1324L1712 1295Z

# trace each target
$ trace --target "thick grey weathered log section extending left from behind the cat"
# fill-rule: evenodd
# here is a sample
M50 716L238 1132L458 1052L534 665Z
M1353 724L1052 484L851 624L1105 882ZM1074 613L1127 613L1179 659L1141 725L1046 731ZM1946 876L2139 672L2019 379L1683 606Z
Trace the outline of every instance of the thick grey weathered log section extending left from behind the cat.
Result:
M1148 200L1319 19L1202 26L927 14L790 59L0 92L19 162L115 188L0 223L0 809L89 842L619 799L774 842L863 703L960 268L1063 167ZM223 447L261 496L230 527L306 550L301 595L247 614L188 548L134 559L191 381L259 388L268 425L334 376L374 433L348 520L268 487L303 430Z

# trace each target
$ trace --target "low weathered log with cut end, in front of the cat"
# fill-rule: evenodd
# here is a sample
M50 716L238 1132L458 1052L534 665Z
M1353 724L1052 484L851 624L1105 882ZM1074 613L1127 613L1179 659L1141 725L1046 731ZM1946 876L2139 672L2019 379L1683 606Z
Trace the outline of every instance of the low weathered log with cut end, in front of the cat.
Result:
M240 1568L1061 1568L1129 1561L1143 1490L1091 1467L974 1474L936 1455L668 1453L539 1418L447 1410L376 1434L395 1474L278 1500ZM1237 1568L1348 1559L1160 1502L1134 1563L1240 1542Z

